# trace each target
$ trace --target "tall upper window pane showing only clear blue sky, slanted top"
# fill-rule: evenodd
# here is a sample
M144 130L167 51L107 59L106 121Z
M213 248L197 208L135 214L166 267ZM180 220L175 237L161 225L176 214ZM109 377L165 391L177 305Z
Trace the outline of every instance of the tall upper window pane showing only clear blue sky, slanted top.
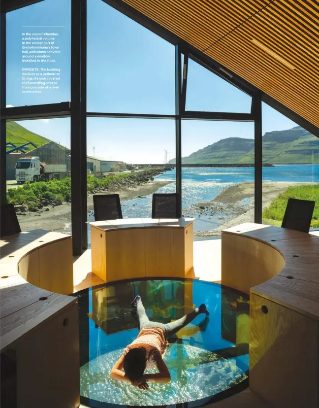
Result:
M175 48L101 0L88 1L91 112L175 114Z

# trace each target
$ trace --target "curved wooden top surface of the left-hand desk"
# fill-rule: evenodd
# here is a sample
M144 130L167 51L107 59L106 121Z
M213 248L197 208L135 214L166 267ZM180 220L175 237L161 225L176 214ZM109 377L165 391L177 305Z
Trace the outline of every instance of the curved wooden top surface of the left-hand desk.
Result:
M76 302L76 298L49 292L26 282L17 268L19 262L33 250L67 238L70 236L33 230L0 240L1 350Z

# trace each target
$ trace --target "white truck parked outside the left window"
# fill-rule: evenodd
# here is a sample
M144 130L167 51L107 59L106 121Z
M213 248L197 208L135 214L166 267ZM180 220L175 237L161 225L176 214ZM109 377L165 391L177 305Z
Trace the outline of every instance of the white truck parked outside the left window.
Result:
M43 163L40 162L38 156L22 157L16 163L16 180L18 183L46 181L52 178L60 180L66 176L66 165Z

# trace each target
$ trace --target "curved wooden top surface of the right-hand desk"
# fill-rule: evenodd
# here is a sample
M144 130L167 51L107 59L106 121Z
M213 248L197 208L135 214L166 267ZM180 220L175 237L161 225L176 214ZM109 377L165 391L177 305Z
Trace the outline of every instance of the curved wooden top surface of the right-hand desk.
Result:
M222 237L223 234L263 242L279 251L285 259L284 269L251 288L251 293L319 320L319 237L253 223L228 228L222 232Z

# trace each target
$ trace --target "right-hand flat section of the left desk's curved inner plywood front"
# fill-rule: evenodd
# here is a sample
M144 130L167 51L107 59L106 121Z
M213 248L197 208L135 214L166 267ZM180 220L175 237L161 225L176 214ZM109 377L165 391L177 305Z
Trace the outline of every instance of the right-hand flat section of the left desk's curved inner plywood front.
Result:
M39 286L52 292L73 293L72 239L39 248Z

